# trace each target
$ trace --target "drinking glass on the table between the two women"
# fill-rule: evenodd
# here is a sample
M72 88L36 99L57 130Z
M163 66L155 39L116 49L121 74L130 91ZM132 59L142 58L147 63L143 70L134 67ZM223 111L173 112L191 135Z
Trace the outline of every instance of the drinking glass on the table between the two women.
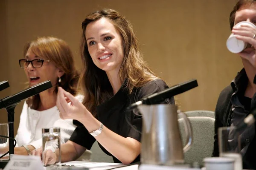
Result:
M56 163L61 163L61 129L60 127L42 128L43 153L42 161L45 163L44 154L46 152L55 152L59 149L59 156ZM54 162L55 164L55 162Z

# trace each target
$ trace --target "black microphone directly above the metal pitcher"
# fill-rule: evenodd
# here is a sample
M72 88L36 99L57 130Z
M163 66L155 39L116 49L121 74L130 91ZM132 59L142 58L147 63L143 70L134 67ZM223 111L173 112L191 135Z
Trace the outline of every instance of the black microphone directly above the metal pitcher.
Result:
M135 102L131 104L128 108L127 111L131 111L134 108L137 108L137 106L142 105L142 104L147 104L147 105L154 105L158 104L160 102L163 102L165 99L170 98L172 96L175 96L177 94L181 94L185 91L188 91L192 88L195 88L198 86L197 80L196 79L191 79L186 82L182 82L177 85L173 85L170 88L167 88L163 91L160 91L158 93L150 94L148 96L143 97L140 99L138 102Z

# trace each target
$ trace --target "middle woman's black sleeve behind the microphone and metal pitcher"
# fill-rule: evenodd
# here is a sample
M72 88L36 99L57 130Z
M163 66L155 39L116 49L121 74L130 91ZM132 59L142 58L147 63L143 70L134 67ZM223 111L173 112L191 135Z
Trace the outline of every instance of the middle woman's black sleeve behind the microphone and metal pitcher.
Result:
M153 94L156 92L163 91L164 89L169 88L168 85L166 85L166 82L164 82L161 79L156 79L151 82L148 82L144 87L140 89L139 92L135 95L135 101L137 102L140 100L142 97ZM169 103L173 104L174 103L174 98L171 97L170 99L166 99L162 104ZM133 127L141 132L141 127L142 127L142 116L138 115L138 113L133 114L133 119L131 120L131 124ZM140 141L140 133L137 132L134 128L130 128L128 137L134 138L137 141Z

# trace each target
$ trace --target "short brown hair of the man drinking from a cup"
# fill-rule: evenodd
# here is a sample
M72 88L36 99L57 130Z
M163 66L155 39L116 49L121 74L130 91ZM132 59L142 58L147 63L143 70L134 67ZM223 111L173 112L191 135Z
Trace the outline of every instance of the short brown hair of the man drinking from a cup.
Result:
M234 6L233 10L230 12L230 29L232 30L235 24L236 11L238 11L241 7L251 6L255 4L256 0L239 0Z

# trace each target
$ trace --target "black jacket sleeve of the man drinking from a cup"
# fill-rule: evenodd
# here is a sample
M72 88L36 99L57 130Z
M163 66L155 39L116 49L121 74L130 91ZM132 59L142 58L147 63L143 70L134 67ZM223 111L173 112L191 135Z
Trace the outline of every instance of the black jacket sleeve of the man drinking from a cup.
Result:
M215 124L214 124L214 144L212 156L219 156L218 149L218 128L224 126L225 117L227 117L231 107L231 95L233 90L231 86L226 87L221 91L218 97L218 102L215 108Z

